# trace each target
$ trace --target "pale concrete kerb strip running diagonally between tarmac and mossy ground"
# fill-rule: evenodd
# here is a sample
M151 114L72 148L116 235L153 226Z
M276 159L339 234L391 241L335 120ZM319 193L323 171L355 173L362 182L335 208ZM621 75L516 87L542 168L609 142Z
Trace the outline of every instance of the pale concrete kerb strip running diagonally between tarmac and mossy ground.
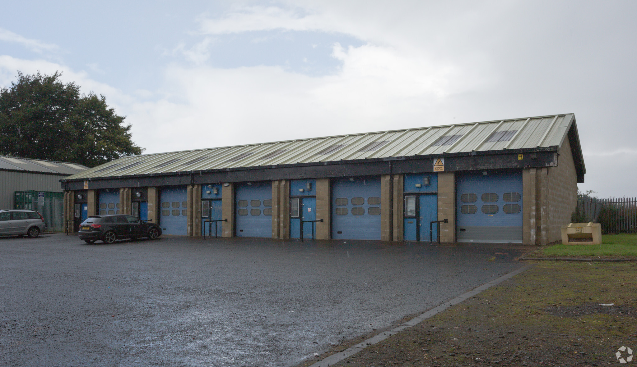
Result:
M526 265L522 268L519 268L518 270L515 270L513 272L510 272L508 274L505 274L497 279L491 280L488 283L482 284L482 286L476 287L475 289L468 291L467 293L461 294L460 296L457 296L456 298L454 298L453 300L450 300L448 302L442 303L441 305L438 305L438 307L434 307L431 310L425 312L422 315L419 315L417 317L414 317L413 319L411 319L410 321L405 322L404 324L402 324L401 326L398 326L397 328L391 329L390 331L384 331L383 333L380 333L376 336L372 336L371 338L365 340L362 343L358 343L356 345L353 345L352 347L349 347L348 349L343 350L342 352L338 352L336 354L332 354L329 357L326 357L320 361L318 361L317 363L312 364L310 367L327 367L327 366L333 366L334 364L343 361L343 359L353 356L354 354L360 352L361 350L369 347L369 345L373 345L376 344L378 342L382 342L383 340L389 338L389 336L392 336L394 334L399 333L400 331L403 331L406 328L410 328L412 326L415 326L417 324L419 324L420 322L429 319L429 317L432 317L436 314L440 314L440 312L443 312L444 310L446 310L447 308L453 306L453 305L457 305L458 303L461 303L462 301L466 300L467 298L471 298L473 296L475 296L476 294L485 291L486 289L489 289L492 286L495 286L496 284L499 284L501 282L504 282L505 280L520 274L521 272L524 272L526 270L528 270L531 267L534 267L535 264L529 264Z

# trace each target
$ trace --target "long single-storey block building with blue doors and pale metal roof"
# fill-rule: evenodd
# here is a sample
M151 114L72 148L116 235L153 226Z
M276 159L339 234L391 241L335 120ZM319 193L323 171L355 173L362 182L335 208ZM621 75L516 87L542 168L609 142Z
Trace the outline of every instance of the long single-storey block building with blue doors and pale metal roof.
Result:
M227 219L224 237L545 244L584 174L575 115L558 114L125 156L61 181L68 219L169 235Z

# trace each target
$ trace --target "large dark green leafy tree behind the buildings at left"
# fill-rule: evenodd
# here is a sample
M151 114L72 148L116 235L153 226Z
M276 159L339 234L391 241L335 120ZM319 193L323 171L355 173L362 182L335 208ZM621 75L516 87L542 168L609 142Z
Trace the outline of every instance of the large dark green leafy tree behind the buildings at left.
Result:
M144 151L106 97L80 95L80 87L62 83L61 75L18 71L17 82L0 88L0 155L95 167Z

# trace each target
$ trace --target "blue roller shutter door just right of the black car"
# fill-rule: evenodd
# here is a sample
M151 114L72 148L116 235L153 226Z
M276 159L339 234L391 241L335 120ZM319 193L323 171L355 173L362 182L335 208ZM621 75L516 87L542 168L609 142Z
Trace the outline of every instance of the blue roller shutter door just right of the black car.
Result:
M159 193L161 216L159 225L167 235L186 235L188 226L188 202L186 186L161 188Z

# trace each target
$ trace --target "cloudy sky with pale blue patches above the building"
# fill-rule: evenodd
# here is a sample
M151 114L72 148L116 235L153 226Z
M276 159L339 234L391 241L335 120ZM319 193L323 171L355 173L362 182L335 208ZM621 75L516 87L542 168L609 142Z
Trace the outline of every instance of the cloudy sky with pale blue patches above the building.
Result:
M0 86L63 71L146 153L575 113L637 196L637 1L0 1Z

